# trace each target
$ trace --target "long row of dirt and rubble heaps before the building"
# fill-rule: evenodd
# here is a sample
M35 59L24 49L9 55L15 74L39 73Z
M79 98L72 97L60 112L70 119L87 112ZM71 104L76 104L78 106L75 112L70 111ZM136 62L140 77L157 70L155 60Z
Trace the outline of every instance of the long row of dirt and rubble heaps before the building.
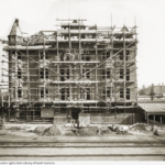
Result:
M131 127L128 125L96 125L96 127L85 127L75 128L68 124L55 124L55 125L42 125L42 127L11 127L8 129L10 132L22 132L31 133L41 136L96 136L96 135L165 135L165 129L157 125L146 124L146 123L135 123Z

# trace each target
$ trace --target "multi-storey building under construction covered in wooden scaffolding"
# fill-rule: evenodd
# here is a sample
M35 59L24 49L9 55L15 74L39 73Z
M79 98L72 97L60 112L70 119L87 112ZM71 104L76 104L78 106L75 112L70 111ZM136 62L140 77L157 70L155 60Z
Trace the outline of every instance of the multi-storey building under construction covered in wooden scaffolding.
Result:
M86 25L57 20L56 31L24 37L19 20L4 46L9 121L133 123L138 109L136 25ZM3 80L3 78L2 78ZM4 82L4 80L3 80ZM3 87L4 88L4 87Z

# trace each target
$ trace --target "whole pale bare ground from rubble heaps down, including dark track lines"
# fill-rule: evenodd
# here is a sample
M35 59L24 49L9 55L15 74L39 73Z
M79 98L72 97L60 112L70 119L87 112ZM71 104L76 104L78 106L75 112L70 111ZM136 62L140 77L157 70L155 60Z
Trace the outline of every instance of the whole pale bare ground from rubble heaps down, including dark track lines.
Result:
M0 161L165 161L165 139L119 136L0 136Z

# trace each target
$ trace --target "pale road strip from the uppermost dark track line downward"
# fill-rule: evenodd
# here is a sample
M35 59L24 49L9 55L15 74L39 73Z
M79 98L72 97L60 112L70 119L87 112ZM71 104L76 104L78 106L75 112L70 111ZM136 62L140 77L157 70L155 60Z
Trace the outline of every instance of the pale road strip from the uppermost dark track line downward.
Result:
M165 144L1 142L0 161L165 161Z

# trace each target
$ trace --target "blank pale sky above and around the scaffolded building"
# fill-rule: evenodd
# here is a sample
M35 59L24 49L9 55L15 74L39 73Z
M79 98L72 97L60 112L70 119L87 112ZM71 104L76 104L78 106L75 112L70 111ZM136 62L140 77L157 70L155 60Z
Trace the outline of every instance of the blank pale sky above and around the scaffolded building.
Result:
M87 19L87 25L136 24L138 87L165 85L165 0L0 0L0 38L4 40L15 18L26 35L56 30L57 18Z

